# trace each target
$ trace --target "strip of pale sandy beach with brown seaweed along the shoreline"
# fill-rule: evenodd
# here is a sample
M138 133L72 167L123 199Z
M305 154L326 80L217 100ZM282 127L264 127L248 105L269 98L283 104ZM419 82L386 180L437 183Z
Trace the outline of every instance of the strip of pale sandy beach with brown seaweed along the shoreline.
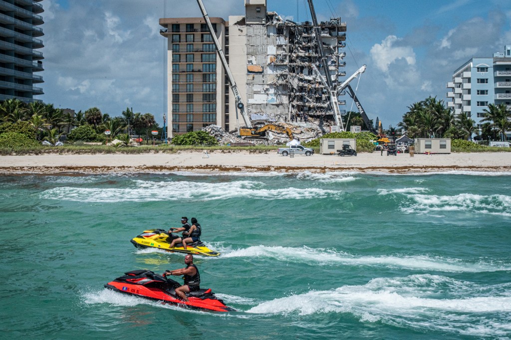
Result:
M192 171L511 172L511 152L358 156L295 155L233 150L152 154L42 154L0 156L0 174L79 174Z

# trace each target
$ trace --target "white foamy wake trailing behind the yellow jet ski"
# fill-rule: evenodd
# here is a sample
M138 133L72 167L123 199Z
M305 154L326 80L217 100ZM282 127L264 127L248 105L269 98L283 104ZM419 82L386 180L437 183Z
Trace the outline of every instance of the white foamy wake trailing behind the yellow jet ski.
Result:
M427 255L407 256L354 256L328 249L309 247L251 246L238 250L221 250L226 257L266 257L283 261L307 263L340 263L358 266L382 266L388 268L407 268L416 270L434 270L444 272L481 273L486 271L511 270L510 264L466 263L458 259L431 257Z

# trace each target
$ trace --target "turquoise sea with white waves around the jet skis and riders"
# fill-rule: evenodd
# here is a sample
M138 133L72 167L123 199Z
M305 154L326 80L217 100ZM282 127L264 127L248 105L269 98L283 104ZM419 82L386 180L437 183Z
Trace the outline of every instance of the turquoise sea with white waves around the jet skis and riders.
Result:
M136 250L197 217L202 312L103 285L184 266ZM0 328L34 339L511 337L511 174L0 177Z

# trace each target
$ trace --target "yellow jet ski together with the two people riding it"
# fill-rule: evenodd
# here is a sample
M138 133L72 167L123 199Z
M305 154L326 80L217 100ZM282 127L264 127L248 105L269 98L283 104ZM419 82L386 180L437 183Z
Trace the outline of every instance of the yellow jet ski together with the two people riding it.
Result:
M177 253L185 253L185 254L193 254L193 255L203 255L203 256L219 256L220 253L212 251L210 248L206 247L204 243L202 243L199 239L201 234L201 226L195 220L194 232L191 235L188 235L188 231L191 229L190 224L188 223L188 219L186 217L181 218L181 223L183 226L181 228L171 228L168 232L163 229L150 229L145 230L142 234L131 239L131 243L137 248L157 248L161 250L165 250L168 252L177 252ZM188 227L188 228L187 228ZM180 238L178 235L173 234L173 232L183 232L183 237ZM185 242L185 245L182 243L182 240L189 240L189 236L195 235L192 238L192 243ZM174 241L176 240L176 241ZM174 241L174 242L173 242ZM174 246L172 246L174 245ZM186 247L186 248L185 248Z

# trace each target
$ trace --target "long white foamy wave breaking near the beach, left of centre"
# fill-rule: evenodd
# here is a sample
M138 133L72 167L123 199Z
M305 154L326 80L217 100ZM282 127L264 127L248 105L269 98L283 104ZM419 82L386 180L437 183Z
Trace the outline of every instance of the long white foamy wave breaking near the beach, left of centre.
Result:
M41 198L81 202L214 200L230 198L253 199L338 199L343 192L318 188L266 189L265 184L249 180L225 183L149 182L135 180L130 188L76 188L59 187L45 190Z

